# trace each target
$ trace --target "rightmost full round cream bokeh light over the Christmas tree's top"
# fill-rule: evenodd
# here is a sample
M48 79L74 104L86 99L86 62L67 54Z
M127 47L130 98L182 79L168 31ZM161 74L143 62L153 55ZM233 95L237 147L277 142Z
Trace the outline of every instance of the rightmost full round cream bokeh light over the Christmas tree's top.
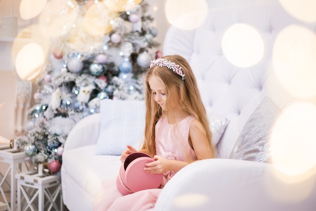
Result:
M85 32L90 35L104 35L112 31L111 21L118 17L118 13L109 10L104 4L92 5L86 12L83 25Z

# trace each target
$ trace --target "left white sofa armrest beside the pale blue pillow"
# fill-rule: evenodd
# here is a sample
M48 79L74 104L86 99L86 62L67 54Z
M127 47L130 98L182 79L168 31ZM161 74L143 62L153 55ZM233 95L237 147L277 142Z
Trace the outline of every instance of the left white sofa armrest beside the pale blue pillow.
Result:
M97 113L77 122L68 134L64 150L96 144L100 131L100 120L101 115Z

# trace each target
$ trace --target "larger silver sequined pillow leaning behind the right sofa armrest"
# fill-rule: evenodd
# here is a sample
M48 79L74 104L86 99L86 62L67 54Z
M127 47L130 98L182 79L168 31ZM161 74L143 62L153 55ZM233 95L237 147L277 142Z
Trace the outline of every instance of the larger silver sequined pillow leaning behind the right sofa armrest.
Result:
M279 113L277 105L265 97L247 120L229 158L271 163L271 130Z

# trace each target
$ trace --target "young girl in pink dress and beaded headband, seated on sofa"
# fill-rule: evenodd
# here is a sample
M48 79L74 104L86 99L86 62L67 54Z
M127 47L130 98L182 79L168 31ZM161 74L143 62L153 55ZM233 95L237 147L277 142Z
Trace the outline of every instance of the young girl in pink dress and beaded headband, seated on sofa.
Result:
M195 77L183 57L174 55L151 61L145 82L145 140L139 151L153 157L144 171L163 173L163 188L188 164L214 158L215 150ZM121 161L136 151L128 145ZM99 197L95 210L149 209L161 191L157 188L122 196L115 188L107 196Z

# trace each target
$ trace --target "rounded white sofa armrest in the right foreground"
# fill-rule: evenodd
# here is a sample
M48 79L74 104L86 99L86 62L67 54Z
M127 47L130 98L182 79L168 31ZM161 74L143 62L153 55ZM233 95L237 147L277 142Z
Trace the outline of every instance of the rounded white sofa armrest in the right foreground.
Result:
M316 176L288 183L272 164L232 159L194 162L164 187L155 210L314 210Z

